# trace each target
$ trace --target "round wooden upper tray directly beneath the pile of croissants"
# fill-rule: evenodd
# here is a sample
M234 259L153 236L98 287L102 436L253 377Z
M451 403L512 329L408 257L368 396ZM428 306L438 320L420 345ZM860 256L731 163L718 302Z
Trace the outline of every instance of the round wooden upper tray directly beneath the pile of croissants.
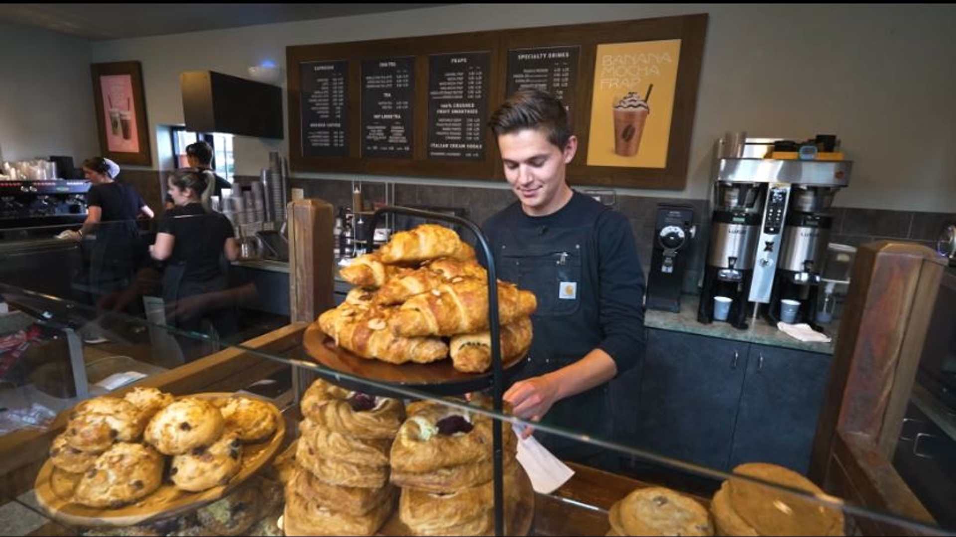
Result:
M392 364L377 359L363 358L341 347L323 333L313 323L305 330L302 343L306 352L323 366L352 376L360 376L385 384L396 384L405 388L421 389L436 395L458 395L469 391L488 388L493 381L491 370L484 373L463 373L451 365L451 358L445 358L429 364L404 363ZM528 359L527 355L512 358L502 364L506 377L520 370ZM339 380L336 383L340 383ZM348 386L362 392L374 393L374 388L357 383ZM394 394L382 394L396 397Z

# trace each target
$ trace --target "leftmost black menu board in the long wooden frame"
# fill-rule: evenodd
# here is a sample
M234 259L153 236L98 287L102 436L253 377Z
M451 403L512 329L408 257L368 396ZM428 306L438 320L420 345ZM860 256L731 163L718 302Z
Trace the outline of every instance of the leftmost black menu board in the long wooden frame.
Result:
M349 155L347 60L299 63L302 109L302 155Z

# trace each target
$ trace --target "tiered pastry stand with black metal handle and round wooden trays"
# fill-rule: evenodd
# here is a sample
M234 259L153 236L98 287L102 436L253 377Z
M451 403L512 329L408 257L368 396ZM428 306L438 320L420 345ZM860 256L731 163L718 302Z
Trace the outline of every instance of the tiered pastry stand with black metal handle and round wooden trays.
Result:
M442 360L433 364L402 365L368 360L338 348L335 343L332 342L331 338L321 333L315 325L311 326L305 333L303 343L306 351L312 355L319 364L333 370L333 373L344 373L350 376L380 381L383 384L392 384L401 386L402 388L421 390L436 396L458 395L484 390L490 387L494 413L501 415L506 369L510 375L513 375L513 373L520 370L521 366L527 362L528 356L522 356L509 360L508 363L502 363L501 333L498 325L498 279L494 267L494 254L491 251L491 247L489 247L488 239L485 237L481 228L465 218L400 206L386 206L376 210L372 217L372 229L378 225L382 215L386 213L403 214L463 226L469 229L477 238L477 247L481 248L481 252L487 260L491 373L478 375L461 373L451 367L450 360ZM370 390L367 385L349 382L341 376L333 376L330 380L338 385L349 387L350 389L363 392L375 392L374 389ZM395 397L394 394L381 395ZM498 536L505 535L506 518L504 509L504 480L502 477L504 462L502 458L503 442L501 427L502 421L495 419L494 426L492 427L492 447L494 449L494 534ZM522 490L523 500L519 503L522 505L520 508L514 509L514 513L510 513L513 514L513 517L510 517L508 529L510 530L509 534L513 535L528 534L531 529L534 512L531 482L528 481L524 470L520 470L520 473L522 475L522 479L519 480L521 483L520 486L522 486L523 489L525 487L527 488L527 495L525 494L525 490ZM528 505L524 505L525 498L528 499ZM511 523L511 519L514 520L513 523ZM382 533L385 535L407 535L407 528L403 528L404 532L402 532L401 523L393 524L395 522L397 521L389 521L386 523L385 527L382 528ZM393 533L392 531L397 531L397 533Z

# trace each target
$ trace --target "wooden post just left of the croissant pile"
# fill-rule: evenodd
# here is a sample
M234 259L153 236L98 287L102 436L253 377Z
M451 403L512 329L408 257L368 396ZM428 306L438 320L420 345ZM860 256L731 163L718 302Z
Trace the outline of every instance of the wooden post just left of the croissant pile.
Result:
M335 307L332 204L315 198L295 200L289 215L289 316L311 323Z

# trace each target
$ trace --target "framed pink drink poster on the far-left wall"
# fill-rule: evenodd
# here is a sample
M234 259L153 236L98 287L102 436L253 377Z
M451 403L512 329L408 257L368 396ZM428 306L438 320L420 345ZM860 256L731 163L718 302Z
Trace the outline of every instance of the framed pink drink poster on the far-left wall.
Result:
M102 156L125 164L152 164L140 62L95 63L91 68Z

